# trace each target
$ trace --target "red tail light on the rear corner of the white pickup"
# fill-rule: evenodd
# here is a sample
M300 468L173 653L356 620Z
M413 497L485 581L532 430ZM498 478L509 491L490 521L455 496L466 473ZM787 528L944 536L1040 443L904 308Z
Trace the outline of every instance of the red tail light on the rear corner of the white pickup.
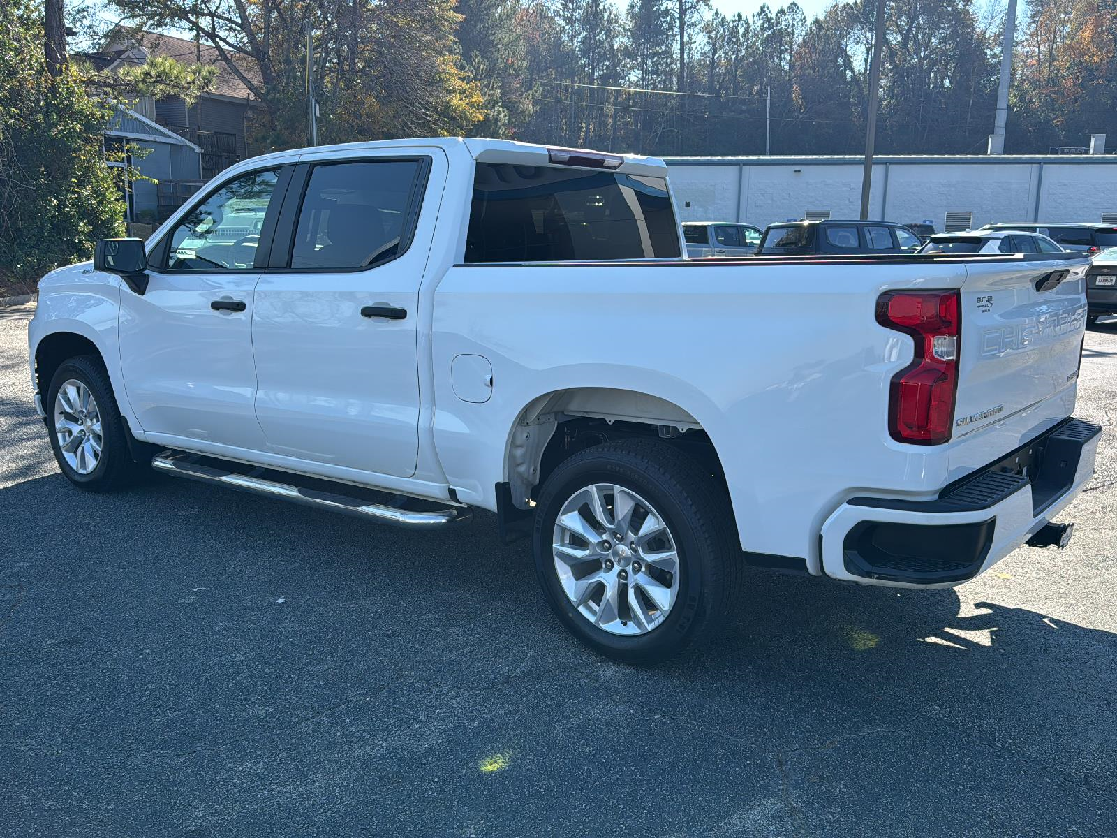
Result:
M888 398L888 431L898 442L939 445L951 438L961 313L956 291L898 291L877 298L877 322L915 342L915 358L892 377Z

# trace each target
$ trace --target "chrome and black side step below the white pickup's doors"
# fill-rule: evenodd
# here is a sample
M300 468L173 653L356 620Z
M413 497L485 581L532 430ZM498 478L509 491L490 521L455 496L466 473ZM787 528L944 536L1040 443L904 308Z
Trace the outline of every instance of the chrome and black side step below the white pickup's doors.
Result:
M314 506L319 510L340 512L343 515L381 521L385 524L394 524L395 526L429 530L431 527L446 526L447 524L461 523L472 517L472 513L466 506L407 510L402 506L392 505L392 503L372 503L364 498L343 495L336 492L336 489L349 489L356 494L361 492L356 486L315 478L302 478L299 475L265 468L246 467L249 469L247 474L232 470L239 465L179 451L163 451L155 455L151 460L151 466L156 472L174 477L187 477L191 480L201 480L202 483L216 483L220 486L239 489L240 492L250 492L254 495L277 497L283 501L303 504L304 506ZM325 488L299 486L295 483L283 483L280 479L274 478L299 480ZM385 493L380 492L372 494L385 495ZM408 498L395 495L391 496L390 499L394 503L400 503ZM431 505L428 501L420 502L424 505Z

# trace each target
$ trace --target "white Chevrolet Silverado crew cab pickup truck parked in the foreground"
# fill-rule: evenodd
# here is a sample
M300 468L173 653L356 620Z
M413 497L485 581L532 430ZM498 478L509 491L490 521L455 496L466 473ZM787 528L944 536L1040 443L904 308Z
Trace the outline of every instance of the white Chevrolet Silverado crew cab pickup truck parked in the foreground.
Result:
M1066 543L1086 259L682 248L657 160L270 154L41 280L36 404L85 489L154 466L405 526L491 510L631 661L708 636L746 563L937 588Z

